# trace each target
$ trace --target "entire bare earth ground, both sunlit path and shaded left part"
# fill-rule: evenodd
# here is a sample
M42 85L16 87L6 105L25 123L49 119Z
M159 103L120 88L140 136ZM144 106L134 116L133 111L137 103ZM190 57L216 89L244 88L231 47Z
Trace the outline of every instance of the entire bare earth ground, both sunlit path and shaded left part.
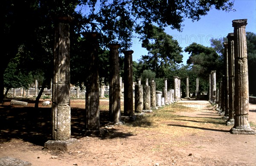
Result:
M208 101L181 100L146 113L122 126L108 124L108 101L101 101L101 128L106 135L87 135L84 100L71 101L69 152L44 149L51 139L51 108L0 105L0 158L9 156L34 166L256 166L256 135L233 135ZM256 104L249 121L256 129ZM52 156L57 156L53 159Z

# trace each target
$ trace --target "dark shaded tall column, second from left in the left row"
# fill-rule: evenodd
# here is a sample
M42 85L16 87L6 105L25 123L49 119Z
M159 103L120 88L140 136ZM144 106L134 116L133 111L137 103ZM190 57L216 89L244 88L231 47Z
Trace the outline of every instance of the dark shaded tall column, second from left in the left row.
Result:
M98 57L98 34L85 33L87 45L87 60L89 61L89 72L87 75L85 112L86 129L99 129L99 57Z

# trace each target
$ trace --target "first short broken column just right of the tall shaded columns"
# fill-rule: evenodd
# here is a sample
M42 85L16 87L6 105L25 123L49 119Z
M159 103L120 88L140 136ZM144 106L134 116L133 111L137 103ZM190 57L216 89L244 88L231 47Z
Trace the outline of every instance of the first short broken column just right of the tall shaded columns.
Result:
M135 85L135 112L141 113L143 110L143 86L141 84L141 79L137 79L137 84Z

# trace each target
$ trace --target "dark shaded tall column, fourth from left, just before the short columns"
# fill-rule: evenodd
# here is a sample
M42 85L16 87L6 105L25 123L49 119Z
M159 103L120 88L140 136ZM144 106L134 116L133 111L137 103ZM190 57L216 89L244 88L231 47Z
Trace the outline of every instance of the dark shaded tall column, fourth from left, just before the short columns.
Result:
M133 71L132 71L132 53L134 51L124 51L124 115L133 115ZM149 106L150 107L150 106Z

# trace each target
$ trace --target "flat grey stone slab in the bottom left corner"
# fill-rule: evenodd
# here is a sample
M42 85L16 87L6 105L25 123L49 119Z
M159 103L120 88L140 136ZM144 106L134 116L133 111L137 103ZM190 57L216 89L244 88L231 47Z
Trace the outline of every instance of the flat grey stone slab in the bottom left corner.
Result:
M0 166L32 166L32 164L17 158L3 157L0 158Z

